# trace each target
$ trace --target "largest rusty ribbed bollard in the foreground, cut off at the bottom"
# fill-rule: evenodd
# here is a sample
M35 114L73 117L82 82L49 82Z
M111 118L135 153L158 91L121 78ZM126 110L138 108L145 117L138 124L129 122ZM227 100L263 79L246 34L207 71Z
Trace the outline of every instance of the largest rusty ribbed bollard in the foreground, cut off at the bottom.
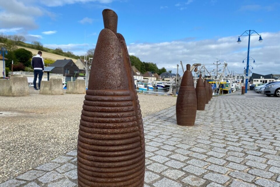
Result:
M145 139L118 16L103 12L78 135L79 187L143 187Z

